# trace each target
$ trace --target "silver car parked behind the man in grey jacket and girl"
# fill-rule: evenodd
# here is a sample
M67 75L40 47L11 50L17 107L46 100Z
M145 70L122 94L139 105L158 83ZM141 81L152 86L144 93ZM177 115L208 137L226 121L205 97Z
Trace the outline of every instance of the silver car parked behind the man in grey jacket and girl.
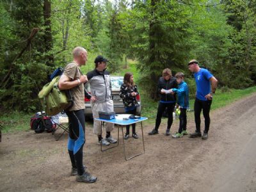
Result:
M111 81L112 99L114 102L114 111L116 114L125 113L123 100L119 96L120 87L123 84L124 77L110 76L110 81ZM86 91L90 93L89 84L86 84L86 86L87 86ZM140 95L137 95L137 100L138 100L138 103L140 104L140 106L138 106L137 108L137 115L140 115L141 113ZM85 117L92 118L92 108L90 104L90 99L84 98L84 105L85 105L85 109L84 109Z

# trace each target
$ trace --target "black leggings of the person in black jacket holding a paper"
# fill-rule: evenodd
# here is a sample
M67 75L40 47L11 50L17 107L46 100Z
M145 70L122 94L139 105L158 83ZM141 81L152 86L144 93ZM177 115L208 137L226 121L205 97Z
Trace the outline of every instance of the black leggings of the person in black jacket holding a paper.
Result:
M173 122L173 109L175 107L175 103L164 103L164 102L159 102L158 108L157 108L157 115L156 115L156 125L155 129L158 130L159 125L161 124L161 118L164 113L164 109L167 108L167 113L168 113L168 123L167 123L167 129L170 129L172 126Z

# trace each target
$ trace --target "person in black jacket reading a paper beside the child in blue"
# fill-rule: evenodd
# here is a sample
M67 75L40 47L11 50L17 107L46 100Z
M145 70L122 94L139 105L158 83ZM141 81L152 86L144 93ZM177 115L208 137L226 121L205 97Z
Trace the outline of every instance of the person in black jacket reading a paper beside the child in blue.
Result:
M173 122L172 113L176 103L175 93L172 93L171 91L172 88L177 88L176 79L172 76L172 71L169 68L165 68L163 70L163 77L159 78L157 85L157 92L160 95L160 101L157 108L156 125L151 132L148 132L149 135L158 134L158 128L161 124L161 118L165 108L167 108L168 113L166 136L170 135L170 128Z

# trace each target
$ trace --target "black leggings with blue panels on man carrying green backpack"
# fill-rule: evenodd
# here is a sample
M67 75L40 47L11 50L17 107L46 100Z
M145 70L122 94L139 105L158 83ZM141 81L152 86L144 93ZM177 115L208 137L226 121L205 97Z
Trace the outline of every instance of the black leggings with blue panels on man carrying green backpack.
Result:
M66 111L69 121L68 154L73 168L78 175L83 175L83 145L85 143L84 110Z

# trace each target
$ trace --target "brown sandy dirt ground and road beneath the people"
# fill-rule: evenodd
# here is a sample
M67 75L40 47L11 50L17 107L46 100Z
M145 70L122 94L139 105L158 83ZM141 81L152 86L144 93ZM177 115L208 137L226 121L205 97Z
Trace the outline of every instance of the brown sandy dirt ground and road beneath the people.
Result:
M84 164L98 177L93 184L70 176L67 134L59 141L46 132L3 134L0 191L256 191L255 111L256 94L211 112L208 140L164 136L166 119L159 134L148 136L154 125L145 123L145 154L129 161L122 140L101 152L92 123L86 123ZM194 129L189 119L188 131ZM143 149L139 126L137 132L140 139L129 138L125 145L128 156Z

